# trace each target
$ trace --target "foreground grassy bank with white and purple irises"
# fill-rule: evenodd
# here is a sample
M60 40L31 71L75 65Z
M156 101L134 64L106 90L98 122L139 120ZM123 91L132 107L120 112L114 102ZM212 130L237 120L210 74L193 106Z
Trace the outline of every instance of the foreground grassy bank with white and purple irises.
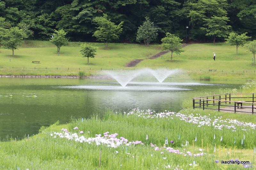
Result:
M107 111L101 119L56 123L33 137L0 143L0 169L244 169L220 164L232 159L254 168L254 126L230 124L228 114L214 111L181 113ZM253 115L248 119L256 122Z

